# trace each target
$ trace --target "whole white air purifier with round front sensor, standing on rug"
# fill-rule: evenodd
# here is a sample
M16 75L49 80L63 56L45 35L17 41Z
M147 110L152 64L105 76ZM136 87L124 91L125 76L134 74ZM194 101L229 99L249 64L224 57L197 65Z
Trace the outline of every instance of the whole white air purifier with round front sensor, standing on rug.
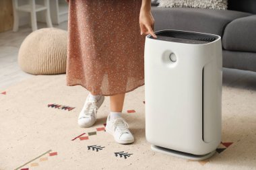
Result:
M211 157L221 142L220 36L155 32L145 44L146 140L154 151L191 160Z

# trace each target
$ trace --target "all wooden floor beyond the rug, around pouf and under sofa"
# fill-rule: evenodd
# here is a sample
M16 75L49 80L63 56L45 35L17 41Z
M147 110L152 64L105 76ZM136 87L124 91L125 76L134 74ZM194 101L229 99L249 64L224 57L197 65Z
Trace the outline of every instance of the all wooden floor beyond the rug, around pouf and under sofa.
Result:
M46 27L46 24L38 23L38 28L44 27ZM54 27L67 30L67 22L63 22L59 26L55 25ZM8 31L0 33L0 90L4 90L10 85L35 76L24 73L17 62L20 45L30 33L31 28L28 26L21 27L18 32ZM224 68L223 84L255 91L256 73Z

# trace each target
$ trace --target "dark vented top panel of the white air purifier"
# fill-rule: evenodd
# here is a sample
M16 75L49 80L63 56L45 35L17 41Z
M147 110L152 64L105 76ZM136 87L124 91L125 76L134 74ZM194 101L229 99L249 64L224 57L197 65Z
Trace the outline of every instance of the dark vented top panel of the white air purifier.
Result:
M185 32L179 30L164 30L155 32L157 38L149 35L148 38L168 42L180 42L186 44L207 44L214 42L218 36L212 34L203 34L199 32Z

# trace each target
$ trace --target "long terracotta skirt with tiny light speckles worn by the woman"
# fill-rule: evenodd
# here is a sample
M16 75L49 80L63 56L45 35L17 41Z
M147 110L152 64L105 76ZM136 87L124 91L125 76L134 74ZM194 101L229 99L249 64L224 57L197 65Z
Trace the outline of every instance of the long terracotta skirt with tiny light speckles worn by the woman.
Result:
M144 85L141 0L69 0L67 85L116 95Z

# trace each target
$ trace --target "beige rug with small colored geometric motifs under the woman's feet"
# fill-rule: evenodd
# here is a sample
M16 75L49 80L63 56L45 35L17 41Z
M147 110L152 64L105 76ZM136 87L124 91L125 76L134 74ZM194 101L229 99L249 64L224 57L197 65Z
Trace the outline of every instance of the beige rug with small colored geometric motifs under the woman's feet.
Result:
M0 169L256 169L256 91L223 87L222 144L205 161L150 149L144 86L125 96L123 116L135 136L127 145L104 132L109 97L92 128L77 126L87 95L66 86L65 75L38 75L1 90Z

